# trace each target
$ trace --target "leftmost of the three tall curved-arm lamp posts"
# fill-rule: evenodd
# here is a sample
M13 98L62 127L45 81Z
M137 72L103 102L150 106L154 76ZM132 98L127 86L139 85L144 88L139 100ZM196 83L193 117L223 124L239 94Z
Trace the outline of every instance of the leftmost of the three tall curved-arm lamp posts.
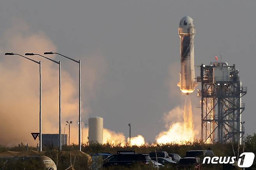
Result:
M7 52L5 53L5 55L8 55L8 56L13 56L13 55L18 55L18 56L21 56L20 54L15 54L15 53L10 53L10 52ZM42 151L42 76L41 76L41 61L35 61L33 59L30 59L28 57L25 57L25 56L21 56L21 57L24 57L30 61L33 61L37 64L39 64L39 151L41 152Z

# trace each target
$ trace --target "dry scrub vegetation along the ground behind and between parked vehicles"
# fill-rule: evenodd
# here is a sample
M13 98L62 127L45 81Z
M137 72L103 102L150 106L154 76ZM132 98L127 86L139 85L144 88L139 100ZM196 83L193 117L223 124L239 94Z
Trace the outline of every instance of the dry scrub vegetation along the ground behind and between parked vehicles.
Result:
M181 156L184 156L186 154L186 151L188 150L205 150L208 147L214 151L214 154L216 156L234 156L234 154L237 156L238 152L253 152L256 154L256 134L254 135L248 135L245 138L244 145L238 146L236 143L226 143L226 144L202 144L200 141L196 142L186 142L182 145L175 144L175 143L170 143L170 144L147 144L144 146L124 146L122 147L121 144L92 144L90 146L83 144L82 145L82 151L88 154L91 153L102 153L102 152L108 152L108 153L117 153L118 150L133 150L136 151L136 153L149 153L151 151L167 151L168 153L178 153ZM34 147L29 147L29 149L36 150ZM44 150L47 150L46 156L50 157L56 165L58 164L58 170L65 170L66 168L70 167L70 156L62 155L60 152L54 150L57 148L47 148L44 147ZM78 149L78 146L73 144L71 146L64 146L63 151L75 151ZM25 151L26 146L23 144L20 144L19 146L16 147L11 147L7 148L4 146L0 146L0 153L4 151ZM0 166L2 167L0 162ZM12 167L9 167L7 169L33 169L32 165L36 164L35 162L30 162L30 163L24 163L22 160L18 160L15 163L12 163ZM90 169L90 165L86 161L85 158L82 158L80 156L72 156L72 165L74 165L75 170L86 170ZM17 168L14 168L17 167ZM18 168L19 167L19 168ZM256 163L254 161L254 164L252 167L256 168ZM37 168L38 169L38 168ZM121 168L121 167L112 167L109 168L112 170L126 170L127 168ZM155 169L152 165L144 165L144 164L136 164L133 165L132 169L134 170L153 170ZM161 170L165 169L176 169L176 168L170 168L170 167L164 167L160 168ZM222 169L220 165L217 165L215 167L209 167L203 168L203 169Z

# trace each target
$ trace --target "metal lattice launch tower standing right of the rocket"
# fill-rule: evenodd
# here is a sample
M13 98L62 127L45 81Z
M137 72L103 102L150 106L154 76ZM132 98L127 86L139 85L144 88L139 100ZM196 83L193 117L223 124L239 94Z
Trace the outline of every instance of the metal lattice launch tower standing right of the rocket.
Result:
M242 97L247 88L242 87L235 64L211 62L202 64L197 82L202 88L201 97L201 139L205 143L242 143L244 127L242 112L245 105Z

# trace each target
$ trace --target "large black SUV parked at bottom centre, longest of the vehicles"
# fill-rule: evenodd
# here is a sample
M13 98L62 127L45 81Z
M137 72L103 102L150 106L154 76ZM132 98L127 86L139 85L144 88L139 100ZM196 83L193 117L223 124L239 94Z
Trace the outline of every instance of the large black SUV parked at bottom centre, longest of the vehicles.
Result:
M150 161L151 159L148 154L137 154L137 153L113 154L104 160L103 167L109 167L113 165L129 167L132 163L136 163L136 162L149 163Z

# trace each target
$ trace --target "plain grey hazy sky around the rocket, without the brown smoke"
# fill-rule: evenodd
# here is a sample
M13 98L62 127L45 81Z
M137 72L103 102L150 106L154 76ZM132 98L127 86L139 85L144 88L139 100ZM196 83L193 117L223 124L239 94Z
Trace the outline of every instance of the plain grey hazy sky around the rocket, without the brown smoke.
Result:
M248 87L242 119L245 133L252 134L256 129L255 9L255 0L1 0L0 38L23 24L33 34L42 32L58 52L81 59L84 75L91 70L95 75L93 80L82 75L84 123L90 116L101 116L106 128L126 137L131 123L132 135L154 141L165 130L165 123L159 121L163 113L183 105L177 87L178 26L188 15L196 27L195 65L209 64L222 52L223 61L239 69ZM45 51L52 50L48 48ZM77 82L78 66L62 61ZM192 96L193 107L200 106L200 98ZM200 110L193 114L200 118Z

